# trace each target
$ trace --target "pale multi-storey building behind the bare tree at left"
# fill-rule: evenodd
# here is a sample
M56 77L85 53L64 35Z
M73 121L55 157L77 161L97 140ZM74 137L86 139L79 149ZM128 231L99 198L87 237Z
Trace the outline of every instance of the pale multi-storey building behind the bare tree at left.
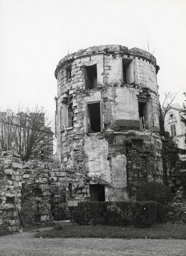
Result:
M53 132L42 112L0 112L0 151L17 150L23 161L38 159L53 166Z

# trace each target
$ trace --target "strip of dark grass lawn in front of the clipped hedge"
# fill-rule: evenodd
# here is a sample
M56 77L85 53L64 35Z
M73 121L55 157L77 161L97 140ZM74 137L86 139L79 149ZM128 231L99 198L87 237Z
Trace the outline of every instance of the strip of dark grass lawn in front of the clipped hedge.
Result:
M159 223L149 228L121 226L64 225L61 230L47 230L35 235L37 238L124 238L124 239L186 239L186 224Z

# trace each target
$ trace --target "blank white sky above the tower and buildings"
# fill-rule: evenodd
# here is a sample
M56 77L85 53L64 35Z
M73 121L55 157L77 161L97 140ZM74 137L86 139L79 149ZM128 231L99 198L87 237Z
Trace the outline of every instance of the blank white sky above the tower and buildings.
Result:
M0 0L1 109L39 103L54 114L56 65L93 45L153 52L160 101L186 90L186 0ZM182 89L183 88L183 89Z

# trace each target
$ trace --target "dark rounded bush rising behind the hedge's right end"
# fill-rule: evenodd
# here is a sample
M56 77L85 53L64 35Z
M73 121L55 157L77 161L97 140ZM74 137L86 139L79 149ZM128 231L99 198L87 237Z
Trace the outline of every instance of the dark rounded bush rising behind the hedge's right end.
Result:
M137 201L157 201L161 204L172 201L170 189L157 182L145 182L142 184L136 193Z

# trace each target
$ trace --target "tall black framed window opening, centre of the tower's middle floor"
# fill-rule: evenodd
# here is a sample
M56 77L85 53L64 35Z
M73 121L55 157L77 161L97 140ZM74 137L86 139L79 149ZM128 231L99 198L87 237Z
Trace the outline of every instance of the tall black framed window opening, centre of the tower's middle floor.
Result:
M100 102L87 104L88 133L101 132Z

